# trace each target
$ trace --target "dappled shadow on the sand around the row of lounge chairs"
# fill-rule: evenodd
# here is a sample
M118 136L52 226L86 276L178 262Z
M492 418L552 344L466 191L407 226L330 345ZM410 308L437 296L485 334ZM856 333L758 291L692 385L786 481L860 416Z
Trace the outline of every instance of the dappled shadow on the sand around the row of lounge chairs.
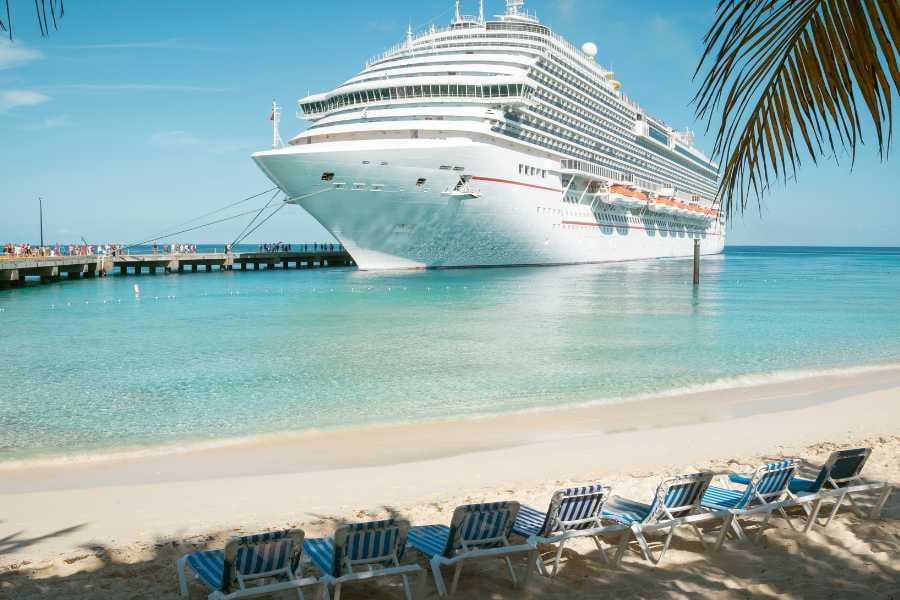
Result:
M378 516L383 518L385 513L404 517L391 507L383 507ZM368 513L357 516L360 520L376 517ZM340 523L323 515L303 526L310 536L327 535ZM66 531L50 535L64 535ZM0 571L0 597L175 600L179 598L176 559L196 549L221 548L224 540L236 533L245 532L159 540L127 551L85 547L83 554L52 566L6 568ZM0 552L21 549L39 539L10 536L0 540ZM510 587L499 562L472 563L463 572L456 598L898 598L900 493L891 495L880 519L861 517L845 508L827 529L817 527L806 536L776 518L760 541L729 540L718 554L704 553L696 540L682 534L659 567L644 562L636 548L631 548L622 566L612 569L601 562L595 550L590 551L592 547L578 546L581 552L567 550L556 578L533 574L522 589ZM408 553L406 560L415 560L415 555ZM524 565L522 558L518 566ZM191 586L192 599L205 597L202 586ZM387 600L402 598L402 591L397 582L384 580L346 589L345 597ZM419 597L437 598L430 578L419 583Z

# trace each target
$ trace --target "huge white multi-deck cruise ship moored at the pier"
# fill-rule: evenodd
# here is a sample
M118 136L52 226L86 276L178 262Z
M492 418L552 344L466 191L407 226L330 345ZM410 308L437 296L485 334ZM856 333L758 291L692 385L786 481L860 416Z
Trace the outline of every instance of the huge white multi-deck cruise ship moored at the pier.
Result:
M506 0L455 14L299 101L253 159L359 268L560 265L721 252L718 165ZM277 127L276 127L277 134ZM277 135L276 135L277 140Z

